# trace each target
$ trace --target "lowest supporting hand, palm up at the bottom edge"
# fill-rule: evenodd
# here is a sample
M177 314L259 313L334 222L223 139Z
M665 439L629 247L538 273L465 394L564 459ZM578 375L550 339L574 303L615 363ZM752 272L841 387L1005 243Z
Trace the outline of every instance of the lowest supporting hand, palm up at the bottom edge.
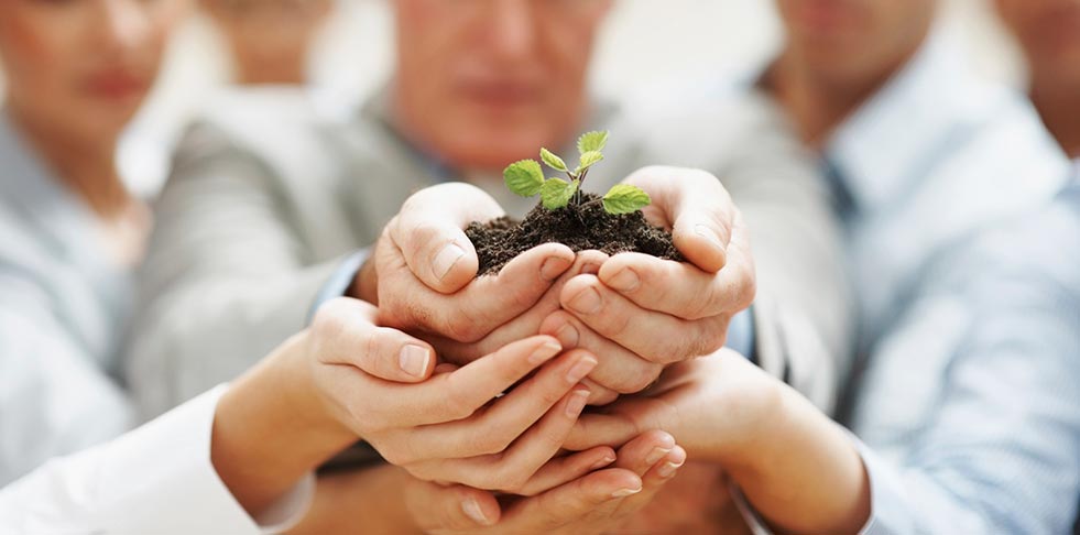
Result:
M650 432L621 447L614 467L536 496L501 505L490 492L417 482L405 500L426 533L599 534L645 506L684 462L670 435Z

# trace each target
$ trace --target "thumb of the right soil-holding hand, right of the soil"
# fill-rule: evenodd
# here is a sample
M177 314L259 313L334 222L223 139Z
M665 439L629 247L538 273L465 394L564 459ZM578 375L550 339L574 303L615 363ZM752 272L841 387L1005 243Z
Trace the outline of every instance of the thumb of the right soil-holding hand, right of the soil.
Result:
M646 217L672 228L675 247L707 272L727 263L737 208L711 174L678 167L645 167L625 181L644 189L653 203Z

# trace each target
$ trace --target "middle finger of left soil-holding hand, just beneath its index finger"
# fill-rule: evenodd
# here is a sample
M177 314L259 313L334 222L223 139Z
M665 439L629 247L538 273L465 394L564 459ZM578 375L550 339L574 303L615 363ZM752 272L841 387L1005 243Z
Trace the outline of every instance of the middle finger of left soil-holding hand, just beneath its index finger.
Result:
M536 335L544 319L559 309L559 291L567 281L574 275L583 273L594 274L599 272L600 266L607 260L608 255L600 251L582 251L578 253L574 265L563 273L532 307L499 326L477 342L462 343L439 336L427 337L427 340L438 348L439 354L444 359L452 362L468 363L512 341Z

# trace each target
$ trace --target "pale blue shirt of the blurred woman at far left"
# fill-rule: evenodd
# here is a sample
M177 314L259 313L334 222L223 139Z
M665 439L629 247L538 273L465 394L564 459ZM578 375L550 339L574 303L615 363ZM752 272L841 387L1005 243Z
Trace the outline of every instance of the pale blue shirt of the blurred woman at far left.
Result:
M0 487L132 423L113 380L131 282L0 112Z

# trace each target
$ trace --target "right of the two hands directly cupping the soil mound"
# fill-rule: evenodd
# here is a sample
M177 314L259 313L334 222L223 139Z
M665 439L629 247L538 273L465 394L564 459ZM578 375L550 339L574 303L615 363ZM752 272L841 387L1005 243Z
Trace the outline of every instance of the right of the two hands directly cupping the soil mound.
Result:
M542 334L564 347L602 356L591 379L621 393L641 391L662 364L710 354L726 340L732 316L753 302L754 262L739 209L714 176L697 170L645 167L626 179L653 198L643 211L653 225L673 229L689 262L640 253L617 254L597 274L582 274L560 290L561 310ZM603 378L632 358L654 363L636 383Z

